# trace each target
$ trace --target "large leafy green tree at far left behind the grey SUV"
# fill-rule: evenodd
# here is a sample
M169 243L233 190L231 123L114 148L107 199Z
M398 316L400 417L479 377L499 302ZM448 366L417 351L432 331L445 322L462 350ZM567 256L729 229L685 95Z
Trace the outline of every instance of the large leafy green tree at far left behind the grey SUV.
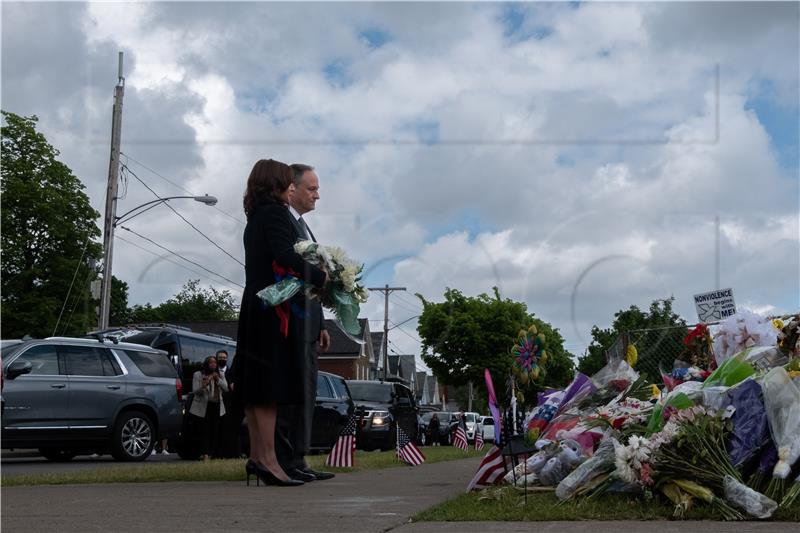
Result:
M89 282L100 214L38 118L2 116L2 336L83 334L97 320Z

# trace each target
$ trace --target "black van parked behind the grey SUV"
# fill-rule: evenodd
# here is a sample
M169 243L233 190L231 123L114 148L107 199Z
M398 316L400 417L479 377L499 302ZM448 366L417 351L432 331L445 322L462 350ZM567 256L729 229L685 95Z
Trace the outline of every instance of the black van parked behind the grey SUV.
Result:
M203 366L203 361L217 350L228 352L228 368L236 357L236 341L224 335L196 333L189 328L169 324L135 325L92 332L89 338L109 337L119 341L143 344L170 355L183 381L183 390L192 391L192 376Z

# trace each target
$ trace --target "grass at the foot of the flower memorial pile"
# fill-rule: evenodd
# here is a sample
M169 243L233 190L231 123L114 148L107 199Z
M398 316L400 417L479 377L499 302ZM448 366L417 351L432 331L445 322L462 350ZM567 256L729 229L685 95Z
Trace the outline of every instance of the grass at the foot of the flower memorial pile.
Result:
M659 500L645 502L621 495L559 504L553 492L529 493L526 505L519 491L507 487L461 494L422 511L414 521L668 520L672 511L672 505ZM685 519L721 518L708 507L697 505L686 513ZM778 509L772 519L800 521L800 502L788 509Z

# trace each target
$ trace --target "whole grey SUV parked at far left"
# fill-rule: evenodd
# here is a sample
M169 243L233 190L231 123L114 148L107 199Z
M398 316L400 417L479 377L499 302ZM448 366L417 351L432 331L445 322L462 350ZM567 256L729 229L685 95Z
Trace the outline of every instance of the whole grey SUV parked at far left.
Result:
M141 461L181 427L181 380L166 352L51 337L2 349L3 448L51 460L111 453Z

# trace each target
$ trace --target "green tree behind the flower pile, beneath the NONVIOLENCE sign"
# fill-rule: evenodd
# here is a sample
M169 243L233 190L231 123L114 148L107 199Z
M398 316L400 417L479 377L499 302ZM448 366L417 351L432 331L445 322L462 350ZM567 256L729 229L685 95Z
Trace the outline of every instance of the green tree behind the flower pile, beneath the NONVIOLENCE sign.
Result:
M578 370L591 376L606 364L606 350L617 338L634 331L630 341L639 352L637 370L651 381L659 379L659 365L672 368L672 361L681 352L686 335L686 321L675 313L672 304L675 298L655 300L650 308L642 311L632 305L617 311L610 328L592 327L592 343L586 354L578 360ZM648 330L645 332L636 330Z

